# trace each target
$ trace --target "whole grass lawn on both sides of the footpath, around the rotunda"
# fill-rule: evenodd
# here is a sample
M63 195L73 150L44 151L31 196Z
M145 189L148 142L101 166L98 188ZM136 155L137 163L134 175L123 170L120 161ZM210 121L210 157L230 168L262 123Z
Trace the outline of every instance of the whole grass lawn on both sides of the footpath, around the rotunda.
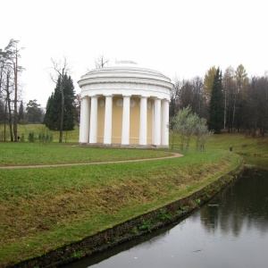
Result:
M267 154L266 141L262 149L258 139L214 135L205 153L190 150L180 158L1 170L0 267L186 197L237 166L241 157L234 152ZM0 143L0 165L104 162L170 152Z

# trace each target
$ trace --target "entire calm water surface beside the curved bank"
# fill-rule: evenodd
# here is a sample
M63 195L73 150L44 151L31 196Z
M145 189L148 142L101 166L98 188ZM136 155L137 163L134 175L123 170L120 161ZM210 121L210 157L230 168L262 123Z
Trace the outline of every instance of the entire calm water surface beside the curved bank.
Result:
M268 267L268 171L247 169L182 222L71 268Z

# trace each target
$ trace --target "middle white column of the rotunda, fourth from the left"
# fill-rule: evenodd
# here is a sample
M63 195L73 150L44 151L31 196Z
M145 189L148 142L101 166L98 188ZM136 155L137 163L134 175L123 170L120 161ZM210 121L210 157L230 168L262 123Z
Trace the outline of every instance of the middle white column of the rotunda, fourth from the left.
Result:
M130 144L130 96L123 96L121 145Z

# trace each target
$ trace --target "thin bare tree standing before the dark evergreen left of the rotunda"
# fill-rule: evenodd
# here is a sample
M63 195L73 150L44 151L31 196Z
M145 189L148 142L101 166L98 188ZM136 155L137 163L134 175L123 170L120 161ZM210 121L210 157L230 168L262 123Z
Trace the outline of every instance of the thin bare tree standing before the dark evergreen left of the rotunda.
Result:
M61 117L60 117L60 138L59 142L63 142L63 119L64 119L64 75L67 75L70 71L67 60L63 57L63 61L55 61L51 59L53 63L53 71L54 73L50 73L51 80L55 83L55 85L60 82L61 86L61 94L62 94L62 104L61 104Z

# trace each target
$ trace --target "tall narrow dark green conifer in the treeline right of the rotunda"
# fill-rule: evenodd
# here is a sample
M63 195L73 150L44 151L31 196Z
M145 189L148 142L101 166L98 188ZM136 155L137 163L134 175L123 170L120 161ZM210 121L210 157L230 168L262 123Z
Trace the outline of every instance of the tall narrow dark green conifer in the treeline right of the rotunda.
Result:
M223 128L224 105L222 91L222 71L217 69L214 76L214 84L209 105L209 130L214 130L214 133L219 134Z

